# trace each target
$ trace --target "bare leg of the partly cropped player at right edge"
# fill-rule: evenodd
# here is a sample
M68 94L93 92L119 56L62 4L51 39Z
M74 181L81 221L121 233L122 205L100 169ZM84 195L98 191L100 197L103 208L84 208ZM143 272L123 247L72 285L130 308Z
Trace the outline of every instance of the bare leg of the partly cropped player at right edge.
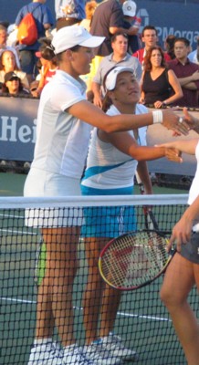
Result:
M188 365L197 365L199 359L199 326L187 297L195 283L199 284L199 266L178 253L166 271L161 298L173 319L173 326L183 346ZM199 285L198 285L199 286Z

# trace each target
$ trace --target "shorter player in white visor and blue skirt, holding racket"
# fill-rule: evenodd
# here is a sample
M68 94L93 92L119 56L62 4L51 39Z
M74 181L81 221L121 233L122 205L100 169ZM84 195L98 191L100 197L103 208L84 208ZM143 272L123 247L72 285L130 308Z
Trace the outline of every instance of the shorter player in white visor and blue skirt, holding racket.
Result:
M148 110L138 101L141 91L132 68L111 68L105 76L104 110L110 116L141 115ZM132 194L136 170L144 185L145 193L152 193L152 184L146 160L166 155L180 161L174 149L146 147L146 127L118 133L107 133L95 128L89 143L86 171L81 181L84 195ZM121 293L105 285L99 276L98 259L102 247L110 239L136 230L133 207L92 207L84 210L86 225L86 255L89 262L88 284L84 292L84 325L88 352L101 359L101 351L108 349L110 358L133 360L135 351L125 347L120 337L113 335L115 318ZM89 320L92 318L92 320ZM99 326L100 318L100 326ZM99 331L98 331L99 328ZM106 362L103 362L106 364Z

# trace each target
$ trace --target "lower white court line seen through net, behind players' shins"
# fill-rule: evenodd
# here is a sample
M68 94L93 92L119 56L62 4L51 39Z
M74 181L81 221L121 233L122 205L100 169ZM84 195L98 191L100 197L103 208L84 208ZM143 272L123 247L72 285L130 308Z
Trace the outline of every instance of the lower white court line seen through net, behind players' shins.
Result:
M5 301L10 301L10 302L15 302L15 303L37 304L37 301L35 301L35 300L17 299L15 297L0 297L0 300L5 300ZM73 309L83 310L82 307L76 307L76 306L74 306ZM171 322L172 321L169 318L153 317L153 316L141 316L139 314L125 313L125 312L118 312L117 316L127 317L127 318L153 319L153 320L166 321L166 322Z

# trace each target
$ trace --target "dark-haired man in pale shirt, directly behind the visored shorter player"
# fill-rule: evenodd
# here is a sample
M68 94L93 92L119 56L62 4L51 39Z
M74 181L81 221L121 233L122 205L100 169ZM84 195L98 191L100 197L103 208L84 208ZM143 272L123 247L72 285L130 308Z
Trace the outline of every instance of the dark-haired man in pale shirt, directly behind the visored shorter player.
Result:
M123 32L117 32L111 37L111 47L113 52L109 56L104 57L99 63L99 68L92 80L92 91L94 94L93 102L101 108L104 97L103 78L106 73L114 66L125 66L132 68L134 76L138 82L141 80L141 64L136 57L131 57L127 52L128 36Z

